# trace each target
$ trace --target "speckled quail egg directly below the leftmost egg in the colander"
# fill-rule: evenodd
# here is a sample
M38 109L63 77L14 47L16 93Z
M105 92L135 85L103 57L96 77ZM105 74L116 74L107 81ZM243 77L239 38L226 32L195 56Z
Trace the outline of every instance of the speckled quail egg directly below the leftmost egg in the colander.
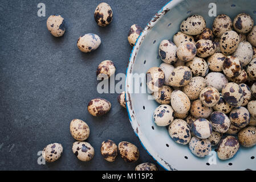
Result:
M157 92L153 92L153 97L159 104L170 104L170 94L173 89L167 85L162 86Z

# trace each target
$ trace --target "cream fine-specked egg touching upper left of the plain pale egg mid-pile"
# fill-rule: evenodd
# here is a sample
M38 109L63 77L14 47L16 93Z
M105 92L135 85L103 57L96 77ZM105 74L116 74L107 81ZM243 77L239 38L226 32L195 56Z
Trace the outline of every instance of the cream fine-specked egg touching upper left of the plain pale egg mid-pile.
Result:
M193 76L205 76L209 72L208 64L201 57L194 57L192 61L186 63L193 73Z

